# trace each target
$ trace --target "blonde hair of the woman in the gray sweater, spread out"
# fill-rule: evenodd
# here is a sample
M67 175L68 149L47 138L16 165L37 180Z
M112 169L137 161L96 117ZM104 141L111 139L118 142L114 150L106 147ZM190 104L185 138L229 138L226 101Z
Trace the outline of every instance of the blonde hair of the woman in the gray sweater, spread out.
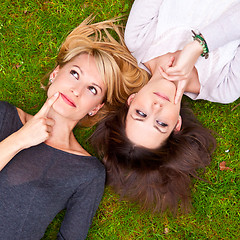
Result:
M57 65L60 68L80 54L93 56L107 86L104 107L95 116L84 117L81 120L83 126L97 123L109 111L126 102L130 94L139 91L148 81L147 72L138 67L136 59L124 43L123 26L116 24L118 20L92 23L91 16L86 18L67 36L57 56Z

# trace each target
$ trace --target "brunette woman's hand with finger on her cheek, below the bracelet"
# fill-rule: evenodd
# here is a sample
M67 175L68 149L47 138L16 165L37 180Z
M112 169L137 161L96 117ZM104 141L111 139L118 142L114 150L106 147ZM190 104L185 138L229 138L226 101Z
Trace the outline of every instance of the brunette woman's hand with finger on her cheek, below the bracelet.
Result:
M203 51L199 42L193 41L187 44L182 51L177 51L176 57L171 57L167 68L160 67L161 75L170 80L178 81L175 104L177 104L185 91L188 82L192 78L194 65Z

